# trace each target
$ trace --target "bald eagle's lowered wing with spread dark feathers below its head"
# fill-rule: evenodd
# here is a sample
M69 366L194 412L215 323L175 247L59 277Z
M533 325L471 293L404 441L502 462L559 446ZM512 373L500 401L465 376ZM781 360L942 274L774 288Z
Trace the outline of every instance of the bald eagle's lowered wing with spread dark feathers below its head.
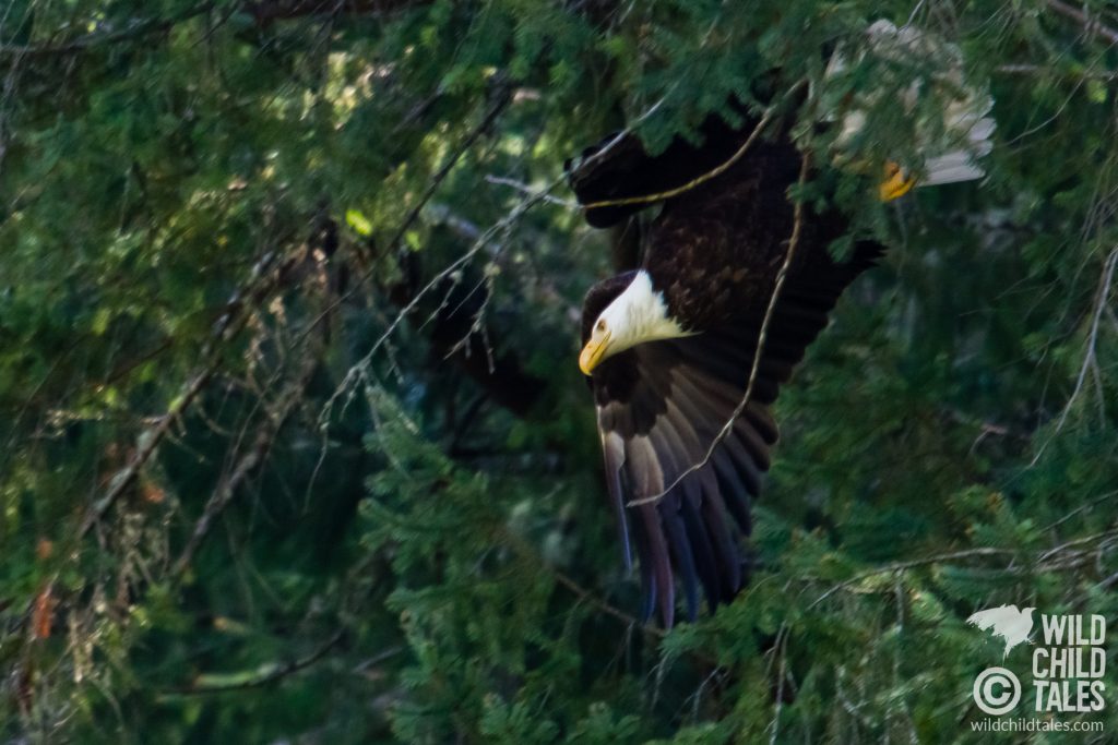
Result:
M593 375L607 485L623 531L633 534L645 612L665 625L674 617L675 581L688 614L699 589L713 609L748 579L739 547L750 532L750 502L760 493L777 427L769 413L807 345L827 323L842 289L880 252L860 243L854 259L826 259L789 278L774 314L749 405L695 472L740 403L761 318L748 315L702 334L641 344L603 362ZM631 502L661 494L659 500ZM628 555L628 538L625 538Z

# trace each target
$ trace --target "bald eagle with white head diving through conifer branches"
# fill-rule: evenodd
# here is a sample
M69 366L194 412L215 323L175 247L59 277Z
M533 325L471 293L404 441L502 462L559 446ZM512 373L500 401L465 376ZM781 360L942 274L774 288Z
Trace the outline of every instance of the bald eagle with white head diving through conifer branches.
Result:
M983 114L989 108L978 106ZM927 153L939 164L925 173L928 183L982 175L973 157L986 152L993 127L974 111L967 108L963 122L968 149ZM648 206L633 198L672 194L660 202L639 268L586 295L578 359L594 392L626 562L633 547L638 556L643 618L659 608L665 627L674 619L676 585L693 620L700 592L713 610L746 583L750 562L741 537L750 533L750 503L777 441L770 407L839 296L883 252L862 240L847 260L835 260L828 247L847 235L847 218L836 209L802 208L795 257L748 405L735 418L794 232L788 189L804 157L784 122L774 125L775 136L758 137L735 160L760 124L743 118L735 127L711 115L699 133L701 145L676 139L656 156L632 135L607 137L568 165L594 227ZM847 136L853 125L844 120L841 126ZM711 173L717 175L703 176ZM879 193L899 197L912 181L893 166Z

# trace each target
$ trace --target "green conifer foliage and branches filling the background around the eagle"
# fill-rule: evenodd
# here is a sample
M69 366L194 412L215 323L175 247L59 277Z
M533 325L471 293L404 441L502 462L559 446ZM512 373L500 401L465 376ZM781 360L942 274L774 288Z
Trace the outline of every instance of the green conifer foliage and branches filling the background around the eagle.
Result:
M871 172L946 103L879 18L992 94L984 181L827 166L850 95ZM1116 41L1070 0L3 3L3 738L987 742L973 612L1118 617ZM790 198L891 252L776 407L751 584L665 632L576 366L632 245L562 164L774 70ZM1118 732L1108 662L1064 720Z

